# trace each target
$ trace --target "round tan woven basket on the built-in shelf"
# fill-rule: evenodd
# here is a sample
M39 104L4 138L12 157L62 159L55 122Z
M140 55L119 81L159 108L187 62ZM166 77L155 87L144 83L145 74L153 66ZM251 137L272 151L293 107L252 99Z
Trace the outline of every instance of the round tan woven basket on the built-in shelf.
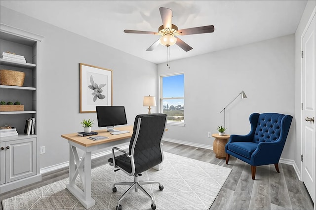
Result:
M23 86L25 73L15 70L0 70L0 85Z

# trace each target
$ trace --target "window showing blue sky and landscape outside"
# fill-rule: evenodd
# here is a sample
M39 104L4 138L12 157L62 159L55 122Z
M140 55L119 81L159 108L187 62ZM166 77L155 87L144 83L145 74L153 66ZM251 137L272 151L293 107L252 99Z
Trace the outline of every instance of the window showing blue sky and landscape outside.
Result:
M184 74L161 76L160 112L169 124L184 125Z

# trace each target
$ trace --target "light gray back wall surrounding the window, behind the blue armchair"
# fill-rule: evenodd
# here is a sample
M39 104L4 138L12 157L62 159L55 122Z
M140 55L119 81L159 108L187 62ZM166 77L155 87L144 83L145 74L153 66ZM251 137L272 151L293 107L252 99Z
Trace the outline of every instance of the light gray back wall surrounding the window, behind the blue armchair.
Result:
M220 111L243 90L226 109L227 134L248 134L249 115L253 112L278 112L294 116L295 98L295 35L243 45L173 61L170 69L158 65L158 77L172 72L184 72L185 127L168 125L165 137L189 144L213 145L224 124ZM172 56L172 55L171 55ZM293 159L294 125L282 153Z

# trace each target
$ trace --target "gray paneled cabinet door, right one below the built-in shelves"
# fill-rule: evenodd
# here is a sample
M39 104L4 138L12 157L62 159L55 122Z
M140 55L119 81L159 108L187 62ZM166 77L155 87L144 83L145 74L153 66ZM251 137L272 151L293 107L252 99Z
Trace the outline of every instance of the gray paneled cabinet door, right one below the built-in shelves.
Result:
M36 175L36 138L5 142L5 181Z

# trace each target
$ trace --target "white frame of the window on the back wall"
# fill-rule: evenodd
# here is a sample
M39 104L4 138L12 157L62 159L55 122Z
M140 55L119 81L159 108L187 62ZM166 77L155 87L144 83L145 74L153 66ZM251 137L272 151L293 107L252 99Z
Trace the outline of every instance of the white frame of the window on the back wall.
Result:
M185 91L183 90L183 97L168 97L168 98L162 98L162 78L163 77L167 77L167 76L176 76L176 75L180 75L180 74L183 74L183 80L185 80L185 75L184 75L184 72L174 72L174 73L169 73L169 74L162 74L159 76L159 111L160 113L163 113L163 104L162 104L162 101L163 100L168 100L168 99L183 99L183 102L185 103ZM183 81L184 83L184 81ZM183 84L185 85L185 84ZM184 89L184 87L183 87ZM183 110L183 116L185 116L185 110ZM184 122L173 122L173 121L169 121L167 120L167 125L176 125L176 126L185 126L185 120Z

